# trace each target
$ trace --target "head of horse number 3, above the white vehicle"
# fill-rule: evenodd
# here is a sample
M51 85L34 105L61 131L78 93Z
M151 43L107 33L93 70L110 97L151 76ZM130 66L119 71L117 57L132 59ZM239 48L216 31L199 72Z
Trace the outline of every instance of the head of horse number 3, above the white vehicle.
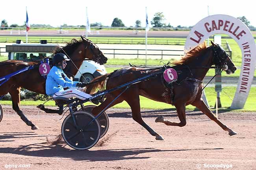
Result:
M107 57L104 56L104 53L100 51L98 46L94 44L91 40L81 36L83 42L85 43L85 49L89 49L85 51L85 58L88 58L90 60L93 60L100 65L105 64L108 60ZM84 59L85 59L84 58Z

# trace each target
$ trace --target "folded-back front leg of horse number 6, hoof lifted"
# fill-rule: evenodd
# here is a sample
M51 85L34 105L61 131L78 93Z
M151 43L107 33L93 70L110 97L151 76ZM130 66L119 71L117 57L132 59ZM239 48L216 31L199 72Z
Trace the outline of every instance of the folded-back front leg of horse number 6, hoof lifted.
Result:
M177 110L178 117L180 119L179 123L168 121L168 120L164 119L163 116L158 116L156 118L155 122L161 122L161 123L166 124L167 126L180 126L180 127L185 126L187 124L185 104L177 104L177 105L175 105L175 107Z

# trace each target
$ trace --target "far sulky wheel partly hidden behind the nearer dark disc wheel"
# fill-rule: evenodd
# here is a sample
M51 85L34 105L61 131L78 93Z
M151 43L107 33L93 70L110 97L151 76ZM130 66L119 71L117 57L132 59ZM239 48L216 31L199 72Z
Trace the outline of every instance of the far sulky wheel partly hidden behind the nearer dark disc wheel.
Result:
M91 113L93 108L95 108L95 105L88 105L88 106L83 106L84 111ZM82 109L80 109L82 110ZM103 112L100 117L98 117L98 122L100 123L100 138L102 138L107 132L109 128L109 118L108 114L106 112Z

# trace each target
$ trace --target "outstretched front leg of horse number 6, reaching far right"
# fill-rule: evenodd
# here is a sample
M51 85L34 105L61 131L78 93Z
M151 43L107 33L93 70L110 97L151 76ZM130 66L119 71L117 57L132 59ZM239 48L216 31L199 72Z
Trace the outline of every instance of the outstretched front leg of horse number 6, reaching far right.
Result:
M206 106L202 99L194 101L192 103L193 106L196 106L199 110L201 110L204 114L206 114L211 120L215 121L221 128L225 131L228 131L230 136L236 135L237 133L234 132L232 129L228 128L225 124L223 124L219 119L211 112L211 110Z

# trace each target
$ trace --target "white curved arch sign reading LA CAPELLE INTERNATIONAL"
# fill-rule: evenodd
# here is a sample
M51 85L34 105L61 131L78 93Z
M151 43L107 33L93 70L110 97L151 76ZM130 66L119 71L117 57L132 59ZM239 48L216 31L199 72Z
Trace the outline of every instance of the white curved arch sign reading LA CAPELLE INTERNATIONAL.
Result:
M249 95L256 63L256 45L250 29L239 19L229 15L211 15L200 20L189 32L185 50L204 42L214 34L232 37L242 51L242 66L232 109L242 109Z

